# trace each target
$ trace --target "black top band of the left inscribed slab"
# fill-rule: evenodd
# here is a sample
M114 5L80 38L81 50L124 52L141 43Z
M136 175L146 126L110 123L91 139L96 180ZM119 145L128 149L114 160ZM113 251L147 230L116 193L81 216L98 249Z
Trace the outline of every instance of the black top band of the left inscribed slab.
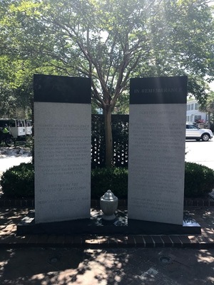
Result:
M91 104L91 78L34 74L34 102Z

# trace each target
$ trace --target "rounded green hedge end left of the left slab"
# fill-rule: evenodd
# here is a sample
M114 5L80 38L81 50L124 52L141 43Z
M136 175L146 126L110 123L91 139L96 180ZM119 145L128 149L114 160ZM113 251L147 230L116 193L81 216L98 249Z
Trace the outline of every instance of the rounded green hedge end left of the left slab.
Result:
M9 197L34 196L34 165L21 163L9 168L1 176L0 185L4 195Z

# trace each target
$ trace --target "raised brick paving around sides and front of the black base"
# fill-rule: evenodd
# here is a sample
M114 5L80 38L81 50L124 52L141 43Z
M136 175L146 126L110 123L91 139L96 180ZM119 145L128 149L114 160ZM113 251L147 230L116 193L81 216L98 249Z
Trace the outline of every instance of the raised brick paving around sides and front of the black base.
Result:
M29 234L16 235L16 225L32 208L1 207L0 247L81 247L91 249L113 247L178 247L208 249L214 247L214 207L185 207L185 211L201 226L198 235L116 234Z

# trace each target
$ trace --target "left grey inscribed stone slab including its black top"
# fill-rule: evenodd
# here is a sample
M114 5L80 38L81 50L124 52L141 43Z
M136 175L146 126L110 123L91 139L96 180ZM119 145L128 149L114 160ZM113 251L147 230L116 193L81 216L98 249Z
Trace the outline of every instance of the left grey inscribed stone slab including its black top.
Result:
M35 222L90 217L91 80L34 76Z

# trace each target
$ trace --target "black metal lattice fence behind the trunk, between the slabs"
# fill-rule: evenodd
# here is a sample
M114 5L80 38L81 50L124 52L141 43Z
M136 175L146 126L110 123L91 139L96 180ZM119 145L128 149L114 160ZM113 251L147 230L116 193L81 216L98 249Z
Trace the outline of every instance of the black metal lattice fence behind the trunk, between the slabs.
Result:
M111 115L113 165L128 165L128 115ZM103 115L91 118L91 167L105 166L105 130Z

